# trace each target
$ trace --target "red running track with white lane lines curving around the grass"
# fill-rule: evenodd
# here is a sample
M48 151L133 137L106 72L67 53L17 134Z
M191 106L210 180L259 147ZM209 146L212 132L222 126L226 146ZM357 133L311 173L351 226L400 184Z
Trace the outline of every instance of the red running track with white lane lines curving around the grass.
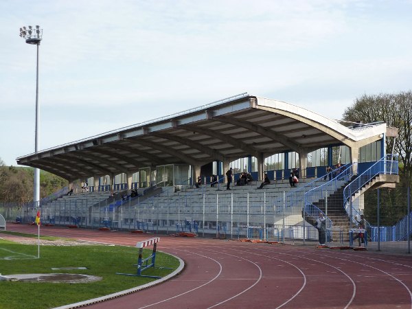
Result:
M37 228L8 225L8 230L36 233ZM65 227L42 227L41 234L128 246L152 237ZM88 307L412 309L409 255L159 237L158 250L184 260L181 274Z

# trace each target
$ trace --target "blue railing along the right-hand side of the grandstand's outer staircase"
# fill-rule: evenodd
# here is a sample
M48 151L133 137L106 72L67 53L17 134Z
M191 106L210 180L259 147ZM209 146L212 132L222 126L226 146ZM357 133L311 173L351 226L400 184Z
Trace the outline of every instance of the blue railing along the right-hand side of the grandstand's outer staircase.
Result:
M376 161L370 168L365 170L362 174L358 175L354 181L348 184L345 189L343 189L343 207L345 207L347 215L350 216L350 220L354 222L355 216L360 216L361 213L353 207L352 211L350 209L350 197L361 190L361 188L369 183L378 174L398 174L398 155L389 154L382 157L379 161Z

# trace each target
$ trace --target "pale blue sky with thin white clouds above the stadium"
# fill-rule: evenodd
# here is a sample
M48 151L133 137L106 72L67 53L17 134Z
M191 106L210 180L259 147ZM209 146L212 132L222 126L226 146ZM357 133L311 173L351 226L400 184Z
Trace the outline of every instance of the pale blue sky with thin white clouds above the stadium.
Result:
M340 119L411 90L412 0L0 2L0 158L248 92Z

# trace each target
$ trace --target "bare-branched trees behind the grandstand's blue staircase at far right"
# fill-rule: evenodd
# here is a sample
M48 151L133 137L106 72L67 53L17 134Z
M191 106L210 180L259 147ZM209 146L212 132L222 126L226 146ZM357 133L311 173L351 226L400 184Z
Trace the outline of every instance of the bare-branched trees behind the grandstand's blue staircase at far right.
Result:
M343 119L350 122L386 122L398 128L396 139L387 138L387 153L400 156L400 185L380 190L380 225L392 226L407 214L407 187L412 181L412 92L362 95L345 110ZM377 191L365 192L365 215L372 225L377 224Z

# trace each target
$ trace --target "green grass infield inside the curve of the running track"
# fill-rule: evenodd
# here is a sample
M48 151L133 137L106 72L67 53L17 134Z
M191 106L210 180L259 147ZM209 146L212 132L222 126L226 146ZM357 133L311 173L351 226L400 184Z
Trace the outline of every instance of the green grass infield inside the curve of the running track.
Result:
M27 237L27 235L24 235ZM1 233L0 233L1 237ZM144 257L151 250L144 250ZM89 283L47 283L0 281L0 308L54 308L119 292L151 282L147 277L116 275L137 273L138 249L122 246L41 246L37 258L37 245L19 244L0 239L0 273L78 273L95 275L103 279ZM157 252L156 266L170 269L148 268L144 275L164 277L179 266L179 261ZM52 268L87 267L82 270L53 271Z

